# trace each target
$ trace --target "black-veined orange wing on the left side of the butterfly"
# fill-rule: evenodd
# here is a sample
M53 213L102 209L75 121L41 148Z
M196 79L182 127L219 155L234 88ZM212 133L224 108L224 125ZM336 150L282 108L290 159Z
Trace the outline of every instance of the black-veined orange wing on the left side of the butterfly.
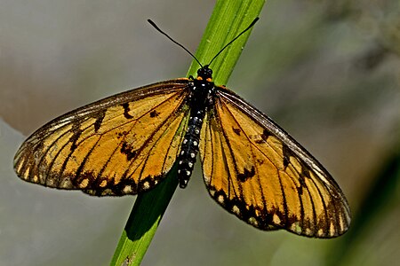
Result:
M105 196L136 194L172 168L187 127L188 79L159 82L49 122L14 158L20 178Z

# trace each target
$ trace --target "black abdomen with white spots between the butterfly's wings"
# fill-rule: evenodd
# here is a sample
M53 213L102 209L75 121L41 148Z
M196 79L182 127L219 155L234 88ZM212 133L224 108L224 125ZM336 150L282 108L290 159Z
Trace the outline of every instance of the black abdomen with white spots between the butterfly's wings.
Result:
M188 185L193 167L196 163L204 110L198 110L190 114L192 116L189 118L188 130L186 131L185 137L183 137L180 155L178 156L178 178L180 179L180 188L185 188Z

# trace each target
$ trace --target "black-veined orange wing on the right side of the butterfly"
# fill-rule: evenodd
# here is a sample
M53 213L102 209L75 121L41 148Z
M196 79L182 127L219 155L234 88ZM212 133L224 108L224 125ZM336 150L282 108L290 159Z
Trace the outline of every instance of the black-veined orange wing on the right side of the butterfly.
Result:
M204 182L222 207L261 230L316 238L348 230L350 211L338 184L265 114L219 87L204 121Z

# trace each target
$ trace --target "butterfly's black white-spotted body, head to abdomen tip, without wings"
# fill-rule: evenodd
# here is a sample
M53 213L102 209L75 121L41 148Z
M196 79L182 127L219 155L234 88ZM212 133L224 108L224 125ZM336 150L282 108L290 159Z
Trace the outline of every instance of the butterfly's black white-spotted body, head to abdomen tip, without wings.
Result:
M199 149L200 131L202 129L204 115L213 105L215 94L214 83L212 82L212 70L204 66L197 71L197 78L189 83L188 106L190 116L188 129L183 137L178 156L178 178L180 187L185 188L192 175L193 167L196 163L196 155Z

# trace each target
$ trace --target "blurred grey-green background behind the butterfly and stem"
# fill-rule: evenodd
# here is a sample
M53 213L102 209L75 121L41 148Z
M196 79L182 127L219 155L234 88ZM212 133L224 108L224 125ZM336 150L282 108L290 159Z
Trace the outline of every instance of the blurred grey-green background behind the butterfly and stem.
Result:
M135 197L20 181L12 158L46 121L185 76L213 1L0 2L0 264L108 265ZM197 170L143 265L393 265L400 247L400 4L277 1L260 14L228 87L327 168L353 213L338 239L264 232L215 204Z

